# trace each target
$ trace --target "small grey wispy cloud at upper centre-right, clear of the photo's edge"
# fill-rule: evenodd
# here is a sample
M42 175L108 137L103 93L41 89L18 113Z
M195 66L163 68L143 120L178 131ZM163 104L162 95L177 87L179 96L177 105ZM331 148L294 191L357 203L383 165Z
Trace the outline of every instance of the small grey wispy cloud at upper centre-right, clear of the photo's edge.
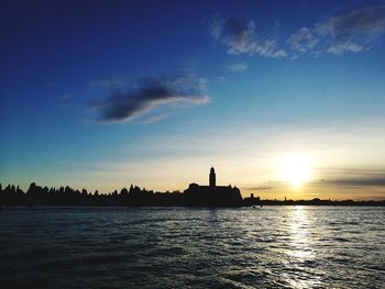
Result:
M211 36L227 46L229 54L256 54L271 58L287 56L284 49L277 47L275 40L262 40L256 36L253 21L242 23L216 16L211 22Z

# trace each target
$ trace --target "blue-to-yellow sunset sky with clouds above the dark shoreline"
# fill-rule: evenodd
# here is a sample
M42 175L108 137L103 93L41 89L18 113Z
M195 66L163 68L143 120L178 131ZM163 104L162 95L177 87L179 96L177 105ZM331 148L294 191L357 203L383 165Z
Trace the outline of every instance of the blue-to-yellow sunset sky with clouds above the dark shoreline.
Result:
M385 199L385 1L1 1L0 31L2 186Z

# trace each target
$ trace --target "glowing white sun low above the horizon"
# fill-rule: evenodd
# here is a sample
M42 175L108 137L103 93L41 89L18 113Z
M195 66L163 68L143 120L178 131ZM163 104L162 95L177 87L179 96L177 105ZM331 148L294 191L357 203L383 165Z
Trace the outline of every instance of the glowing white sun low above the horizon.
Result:
M300 154L290 154L283 157L280 165L280 180L299 187L310 179L311 167L308 157Z

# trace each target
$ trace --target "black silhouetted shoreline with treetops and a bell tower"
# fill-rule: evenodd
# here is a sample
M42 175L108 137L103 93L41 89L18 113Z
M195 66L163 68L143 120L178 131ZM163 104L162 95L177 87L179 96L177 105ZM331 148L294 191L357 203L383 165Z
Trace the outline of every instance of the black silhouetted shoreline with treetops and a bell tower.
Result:
M109 193L94 193L86 189L74 190L66 186L56 188L41 187L35 182L24 192L19 186L0 184L0 205L113 205L113 207L245 207L245 205L385 205L383 201L331 201L315 198L312 200L261 200L251 193L242 198L235 186L217 186L216 171L211 167L209 185L190 184L184 192L154 192L131 185Z

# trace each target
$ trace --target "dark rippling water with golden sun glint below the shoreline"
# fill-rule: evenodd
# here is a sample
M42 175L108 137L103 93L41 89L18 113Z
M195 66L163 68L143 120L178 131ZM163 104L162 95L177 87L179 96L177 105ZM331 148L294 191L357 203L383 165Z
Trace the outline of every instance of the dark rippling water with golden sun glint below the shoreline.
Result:
M385 208L0 211L1 288L385 288Z

